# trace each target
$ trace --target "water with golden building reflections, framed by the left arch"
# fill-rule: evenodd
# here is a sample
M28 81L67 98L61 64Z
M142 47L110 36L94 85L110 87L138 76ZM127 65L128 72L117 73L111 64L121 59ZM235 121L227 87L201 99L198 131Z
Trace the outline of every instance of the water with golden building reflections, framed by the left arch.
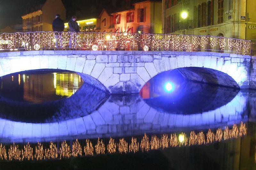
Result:
M75 72L24 71L1 77L0 95L6 99L40 103L68 98L83 83Z

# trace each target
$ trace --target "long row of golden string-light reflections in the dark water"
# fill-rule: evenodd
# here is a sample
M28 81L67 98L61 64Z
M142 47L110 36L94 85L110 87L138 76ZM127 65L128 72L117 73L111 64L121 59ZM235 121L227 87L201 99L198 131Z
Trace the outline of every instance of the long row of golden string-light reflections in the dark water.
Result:
M225 132L226 131L226 132ZM222 133L226 133L225 137L222 137ZM228 133L228 134L227 134ZM226 127L223 131L221 129L217 129L216 134L212 132L211 129L208 130L206 134L207 141L205 142L205 135L203 131L199 133L195 133L195 131L190 132L190 136L186 137L185 133L181 133L177 138L176 133L170 134L170 138L167 134L163 134L161 138L158 138L156 135L151 137L149 141L149 137L147 134L141 139L141 142L137 142L136 138L132 137L131 144L129 144L129 152L138 152L139 147L142 152L149 151L149 150L156 150L156 149L164 149L169 147L182 147L182 146L191 146L191 145L204 145L220 141L227 141L227 139L231 138L238 138L243 137L239 136L238 134L247 134L247 128L245 124L241 122L240 128L237 127L236 124L233 125L232 129ZM227 136L228 135L228 136ZM215 139L213 139L215 137ZM229 138L228 138L229 137ZM189 138L189 144L187 143ZM47 146L47 145L46 145ZM22 149L19 149L18 145L13 143L8 149L8 152L5 149L6 147L3 144L0 144L0 160L42 160L42 159L62 159L62 158L70 158L78 157L82 155L82 146L76 139L72 145L72 151L70 146L67 144L66 141L63 141L60 148L56 147L56 144L50 142L50 146L48 148L43 147L42 144L39 142L35 146L35 154L33 153L33 148L28 144L24 145ZM95 148L95 149L94 149ZM103 143L102 139L98 138L98 143L93 147L92 143L89 139L86 139L86 144L84 146L84 154L87 155L94 155L94 150L96 154L105 154L105 144ZM128 143L124 138L119 139L118 143L118 151L119 153L127 153L128 152ZM71 154L72 152L72 154ZM116 152L116 143L115 140L110 137L108 145L107 145L107 152L108 153L115 153ZM8 153L8 154L7 154ZM256 161L256 155L255 155Z

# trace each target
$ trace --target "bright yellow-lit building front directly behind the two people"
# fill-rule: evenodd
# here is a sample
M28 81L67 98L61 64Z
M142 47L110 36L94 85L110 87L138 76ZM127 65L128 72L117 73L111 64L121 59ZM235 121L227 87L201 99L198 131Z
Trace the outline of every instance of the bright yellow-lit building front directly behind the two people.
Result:
M69 31L68 21L64 23L65 25L64 31ZM84 18L84 19L77 19L76 22L79 25L81 32L96 32L96 29L99 26L100 20L98 18Z

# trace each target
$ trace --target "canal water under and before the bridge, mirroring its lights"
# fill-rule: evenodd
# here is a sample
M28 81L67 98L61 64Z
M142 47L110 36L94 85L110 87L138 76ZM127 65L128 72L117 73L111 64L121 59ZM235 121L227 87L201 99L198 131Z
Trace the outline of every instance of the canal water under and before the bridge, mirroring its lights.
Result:
M0 78L0 167L256 169L255 102L254 91L178 72L126 95L65 70L10 74Z

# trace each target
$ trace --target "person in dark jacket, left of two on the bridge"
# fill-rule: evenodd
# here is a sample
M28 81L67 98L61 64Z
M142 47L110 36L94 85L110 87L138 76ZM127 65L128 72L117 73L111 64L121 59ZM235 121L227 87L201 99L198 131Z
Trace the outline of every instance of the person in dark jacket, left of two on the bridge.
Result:
M61 44L61 32L64 31L64 22L62 19L60 19L60 14L56 14L55 16L55 19L53 20L52 22L52 30L55 33L55 45L56 45L56 48L59 48L58 46L58 43L59 43L59 40L60 40L60 44ZM61 48L61 46L60 46Z

